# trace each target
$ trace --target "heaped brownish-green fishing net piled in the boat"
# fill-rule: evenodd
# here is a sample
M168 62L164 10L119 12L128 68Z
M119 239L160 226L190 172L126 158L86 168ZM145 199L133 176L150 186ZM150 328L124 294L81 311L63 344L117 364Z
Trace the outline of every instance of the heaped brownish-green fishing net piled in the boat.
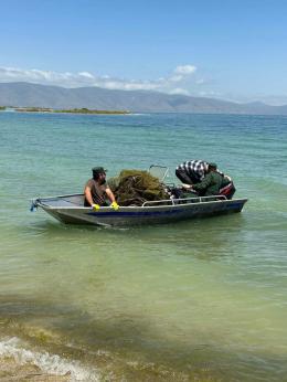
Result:
M148 171L123 170L108 184L119 205L141 205L146 201L169 199L158 178Z

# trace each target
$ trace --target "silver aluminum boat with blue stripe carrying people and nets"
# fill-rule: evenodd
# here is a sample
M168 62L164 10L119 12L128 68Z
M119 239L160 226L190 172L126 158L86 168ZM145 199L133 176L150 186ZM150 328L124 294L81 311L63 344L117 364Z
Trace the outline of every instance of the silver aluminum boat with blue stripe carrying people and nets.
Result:
M65 224L134 226L241 212L246 201L247 199L227 200L222 195L213 195L147 201L141 206L119 206L117 211L110 206L102 206L95 211L84 206L82 193L34 199L31 210L40 206Z

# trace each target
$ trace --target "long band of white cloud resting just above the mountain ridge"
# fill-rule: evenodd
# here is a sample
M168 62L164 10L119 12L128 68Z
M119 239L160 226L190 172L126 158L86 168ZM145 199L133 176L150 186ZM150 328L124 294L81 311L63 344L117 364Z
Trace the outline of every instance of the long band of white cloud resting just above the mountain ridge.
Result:
M63 87L98 86L119 91L157 91L167 94L182 94L201 97L228 99L233 102L262 100L269 105L286 105L287 94L280 95L240 95L223 93L214 88L211 79L194 75L193 65L179 65L169 75L157 79L127 79L116 78L107 74L98 76L87 71L78 73L40 71L36 68L22 70L19 67L1 67L0 82L29 82L34 84L54 85ZM216 84L215 84L216 85Z

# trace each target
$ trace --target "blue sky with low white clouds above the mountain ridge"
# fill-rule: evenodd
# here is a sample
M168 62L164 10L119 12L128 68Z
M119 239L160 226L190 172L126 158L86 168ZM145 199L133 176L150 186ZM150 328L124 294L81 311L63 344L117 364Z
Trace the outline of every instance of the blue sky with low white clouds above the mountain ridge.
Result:
M287 104L287 1L0 1L0 82Z

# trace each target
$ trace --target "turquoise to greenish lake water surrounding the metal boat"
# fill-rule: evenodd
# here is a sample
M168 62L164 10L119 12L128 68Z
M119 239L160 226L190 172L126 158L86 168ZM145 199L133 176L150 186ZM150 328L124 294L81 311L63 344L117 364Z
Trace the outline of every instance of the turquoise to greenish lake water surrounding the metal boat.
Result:
M286 378L286 117L0 113L0 354L87 381ZM29 211L97 165L173 181L198 158L233 177L241 214L115 230Z

